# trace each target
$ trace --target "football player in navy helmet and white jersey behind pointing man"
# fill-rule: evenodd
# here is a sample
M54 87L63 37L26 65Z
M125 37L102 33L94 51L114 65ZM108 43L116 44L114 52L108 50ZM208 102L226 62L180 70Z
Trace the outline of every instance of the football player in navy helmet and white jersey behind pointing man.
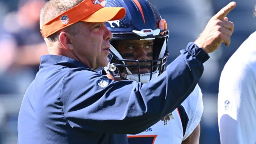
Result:
M106 7L126 8L124 18L105 24L113 34L107 77L147 83L161 76L168 57L169 30L155 6L147 0L105 2ZM202 112L202 93L197 85L172 113L144 132L128 135L129 144L199 143Z

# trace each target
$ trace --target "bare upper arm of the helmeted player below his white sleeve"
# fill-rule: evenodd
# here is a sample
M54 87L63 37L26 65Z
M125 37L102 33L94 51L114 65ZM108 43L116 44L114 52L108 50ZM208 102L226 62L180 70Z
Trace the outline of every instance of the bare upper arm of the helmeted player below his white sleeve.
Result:
M200 137L200 124L195 128L195 130L188 136L181 144L199 144Z

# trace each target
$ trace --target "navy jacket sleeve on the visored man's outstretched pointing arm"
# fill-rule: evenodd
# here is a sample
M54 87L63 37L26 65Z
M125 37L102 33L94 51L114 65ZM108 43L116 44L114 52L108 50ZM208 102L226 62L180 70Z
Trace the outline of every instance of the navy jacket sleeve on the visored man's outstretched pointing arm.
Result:
M191 42L165 72L146 84L113 81L89 69L71 71L63 80L60 94L66 121L84 132L139 133L186 99L208 58Z

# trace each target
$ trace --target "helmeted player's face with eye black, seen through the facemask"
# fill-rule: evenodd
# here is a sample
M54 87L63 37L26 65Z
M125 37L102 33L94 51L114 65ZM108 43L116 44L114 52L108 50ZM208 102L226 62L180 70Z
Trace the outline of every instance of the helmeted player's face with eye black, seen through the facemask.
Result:
M117 40L115 45L117 51L123 59L130 60L152 60L153 59L153 40ZM125 62L126 65L135 65L136 62ZM141 66L150 66L150 63L140 63ZM130 67L129 70L137 74L137 67ZM140 68L140 73L149 73L150 68Z

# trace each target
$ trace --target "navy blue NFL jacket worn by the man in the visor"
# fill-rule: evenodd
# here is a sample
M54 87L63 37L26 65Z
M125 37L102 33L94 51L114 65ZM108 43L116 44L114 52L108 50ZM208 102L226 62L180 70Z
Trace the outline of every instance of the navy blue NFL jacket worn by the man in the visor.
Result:
M23 98L19 144L125 144L172 112L193 91L209 58L193 42L146 84L113 81L59 55L41 57Z

